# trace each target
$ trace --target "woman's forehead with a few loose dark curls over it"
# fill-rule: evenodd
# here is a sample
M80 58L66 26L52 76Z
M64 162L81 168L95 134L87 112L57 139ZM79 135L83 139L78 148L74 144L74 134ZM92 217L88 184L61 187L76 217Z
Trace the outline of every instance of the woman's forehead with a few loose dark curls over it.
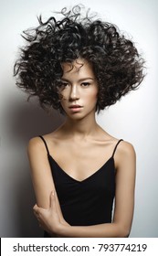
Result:
M63 77L66 78L69 75L78 76L90 76L94 78L92 65L86 59L75 59L72 63L64 62L61 64L63 69Z

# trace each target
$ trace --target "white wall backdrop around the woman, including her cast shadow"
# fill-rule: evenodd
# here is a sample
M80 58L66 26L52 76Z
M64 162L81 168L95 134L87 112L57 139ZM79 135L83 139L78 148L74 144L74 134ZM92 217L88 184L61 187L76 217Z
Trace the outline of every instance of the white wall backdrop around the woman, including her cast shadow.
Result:
M100 17L126 31L142 51L147 76L138 91L97 117L113 136L131 142L137 153L135 211L131 237L158 237L158 2L156 0L0 0L0 235L40 237L42 231L32 213L35 203L26 157L32 136L51 132L62 122L57 112L47 115L36 101L26 102L17 90L13 65L17 48L23 45L21 32L37 26L37 16L82 3Z

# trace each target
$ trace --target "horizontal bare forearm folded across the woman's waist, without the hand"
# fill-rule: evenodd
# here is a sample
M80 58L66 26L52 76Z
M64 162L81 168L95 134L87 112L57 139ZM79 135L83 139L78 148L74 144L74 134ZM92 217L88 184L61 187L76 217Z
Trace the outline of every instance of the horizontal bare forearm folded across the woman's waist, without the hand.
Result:
M129 235L129 231L121 224L105 223L92 226L65 226L60 227L61 237L71 238L122 238Z

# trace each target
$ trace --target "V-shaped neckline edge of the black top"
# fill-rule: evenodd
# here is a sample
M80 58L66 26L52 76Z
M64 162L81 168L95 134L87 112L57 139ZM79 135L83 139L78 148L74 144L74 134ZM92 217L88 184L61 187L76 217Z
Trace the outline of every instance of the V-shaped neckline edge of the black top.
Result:
M58 165L58 163L56 162L56 160L55 160L51 155L48 155L48 157L49 157L49 159L53 160L53 162L54 162L56 165ZM100 168L99 168L97 171L95 171L94 173L92 173L90 176L84 178L83 180L78 180L78 179L76 179L76 178L74 178L74 177L72 177L72 176L69 176L68 173L60 167L60 165L58 165L58 168L59 168L60 171L62 171L62 173L63 173L64 175L68 176L68 178L72 179L72 180L75 181L75 182L83 183L83 182L86 182L87 180L89 180L91 177L96 176L98 173L100 173L100 170L101 170L103 167L105 167L105 165L107 165L109 162L111 162L111 160L112 160L112 162L114 163L114 159L113 159L113 156L112 156L112 155L111 155L111 157L110 157L103 165L100 166Z

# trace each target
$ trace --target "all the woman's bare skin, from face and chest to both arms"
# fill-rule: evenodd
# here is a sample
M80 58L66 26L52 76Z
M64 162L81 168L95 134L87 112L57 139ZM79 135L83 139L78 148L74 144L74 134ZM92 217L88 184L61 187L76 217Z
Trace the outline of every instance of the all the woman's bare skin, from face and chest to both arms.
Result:
M68 176L82 181L95 173L112 155L118 139L106 133L96 122L99 85L85 59L73 66L63 63L59 92L66 122L53 133L44 135L50 155ZM69 106L79 104L72 110ZM28 144L28 157L37 205L34 213L42 229L58 237L127 237L132 227L135 186L135 152L132 144L122 141L115 152L116 194L112 223L75 227L63 218L47 151L35 137ZM96 161L98 159L98 161ZM67 161L65 161L67 160ZM89 169L87 168L89 166Z

